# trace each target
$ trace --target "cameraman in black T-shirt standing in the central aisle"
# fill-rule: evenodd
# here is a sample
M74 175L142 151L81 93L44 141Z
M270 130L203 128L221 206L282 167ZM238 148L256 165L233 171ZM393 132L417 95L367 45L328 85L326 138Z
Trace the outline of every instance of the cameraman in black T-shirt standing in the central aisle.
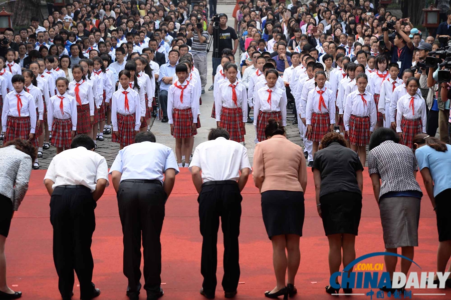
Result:
M213 83L214 83L214 75L216 75L217 66L221 63L221 54L222 50L225 48L233 49L232 54L235 55L238 49L238 36L235 29L230 26L227 26L228 17L225 14L219 14L213 16L211 22L208 26L208 33L213 37L213 55L212 55L212 63L213 63ZM214 24L214 26L213 26ZM218 37L215 37L215 33L217 32ZM234 45L232 47L232 40L234 40ZM213 85L208 89L208 91L213 90Z

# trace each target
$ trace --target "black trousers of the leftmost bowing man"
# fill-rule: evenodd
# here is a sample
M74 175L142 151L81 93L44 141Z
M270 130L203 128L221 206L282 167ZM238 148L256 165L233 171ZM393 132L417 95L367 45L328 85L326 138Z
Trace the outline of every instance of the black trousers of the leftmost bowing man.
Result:
M91 190L85 186L56 187L50 198L53 260L63 299L72 296L74 270L80 281L80 298L90 299L94 291L91 243L96 227L95 207Z

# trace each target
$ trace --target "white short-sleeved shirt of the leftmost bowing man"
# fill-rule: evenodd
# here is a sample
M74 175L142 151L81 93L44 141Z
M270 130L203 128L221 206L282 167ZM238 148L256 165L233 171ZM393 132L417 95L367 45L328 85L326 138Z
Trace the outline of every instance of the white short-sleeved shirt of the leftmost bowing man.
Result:
M85 147L68 149L52 159L46 179L55 182L53 189L60 185L84 185L94 192L99 179L105 179L108 186L108 165L103 156Z

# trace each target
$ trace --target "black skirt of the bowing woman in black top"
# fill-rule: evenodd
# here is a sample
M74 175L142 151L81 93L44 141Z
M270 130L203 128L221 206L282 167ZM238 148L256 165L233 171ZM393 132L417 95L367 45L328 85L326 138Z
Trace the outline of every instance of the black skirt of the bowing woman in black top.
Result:
M352 192L336 192L320 198L321 216L326 235L357 235L362 212L362 195Z

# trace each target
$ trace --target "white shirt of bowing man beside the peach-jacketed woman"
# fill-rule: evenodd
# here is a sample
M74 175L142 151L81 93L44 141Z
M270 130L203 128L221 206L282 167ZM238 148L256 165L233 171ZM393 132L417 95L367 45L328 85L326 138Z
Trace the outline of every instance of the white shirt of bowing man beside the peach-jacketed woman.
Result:
M241 170L249 168L252 172L246 147L223 137L200 143L194 150L189 170L194 166L202 170L203 182L237 181Z

